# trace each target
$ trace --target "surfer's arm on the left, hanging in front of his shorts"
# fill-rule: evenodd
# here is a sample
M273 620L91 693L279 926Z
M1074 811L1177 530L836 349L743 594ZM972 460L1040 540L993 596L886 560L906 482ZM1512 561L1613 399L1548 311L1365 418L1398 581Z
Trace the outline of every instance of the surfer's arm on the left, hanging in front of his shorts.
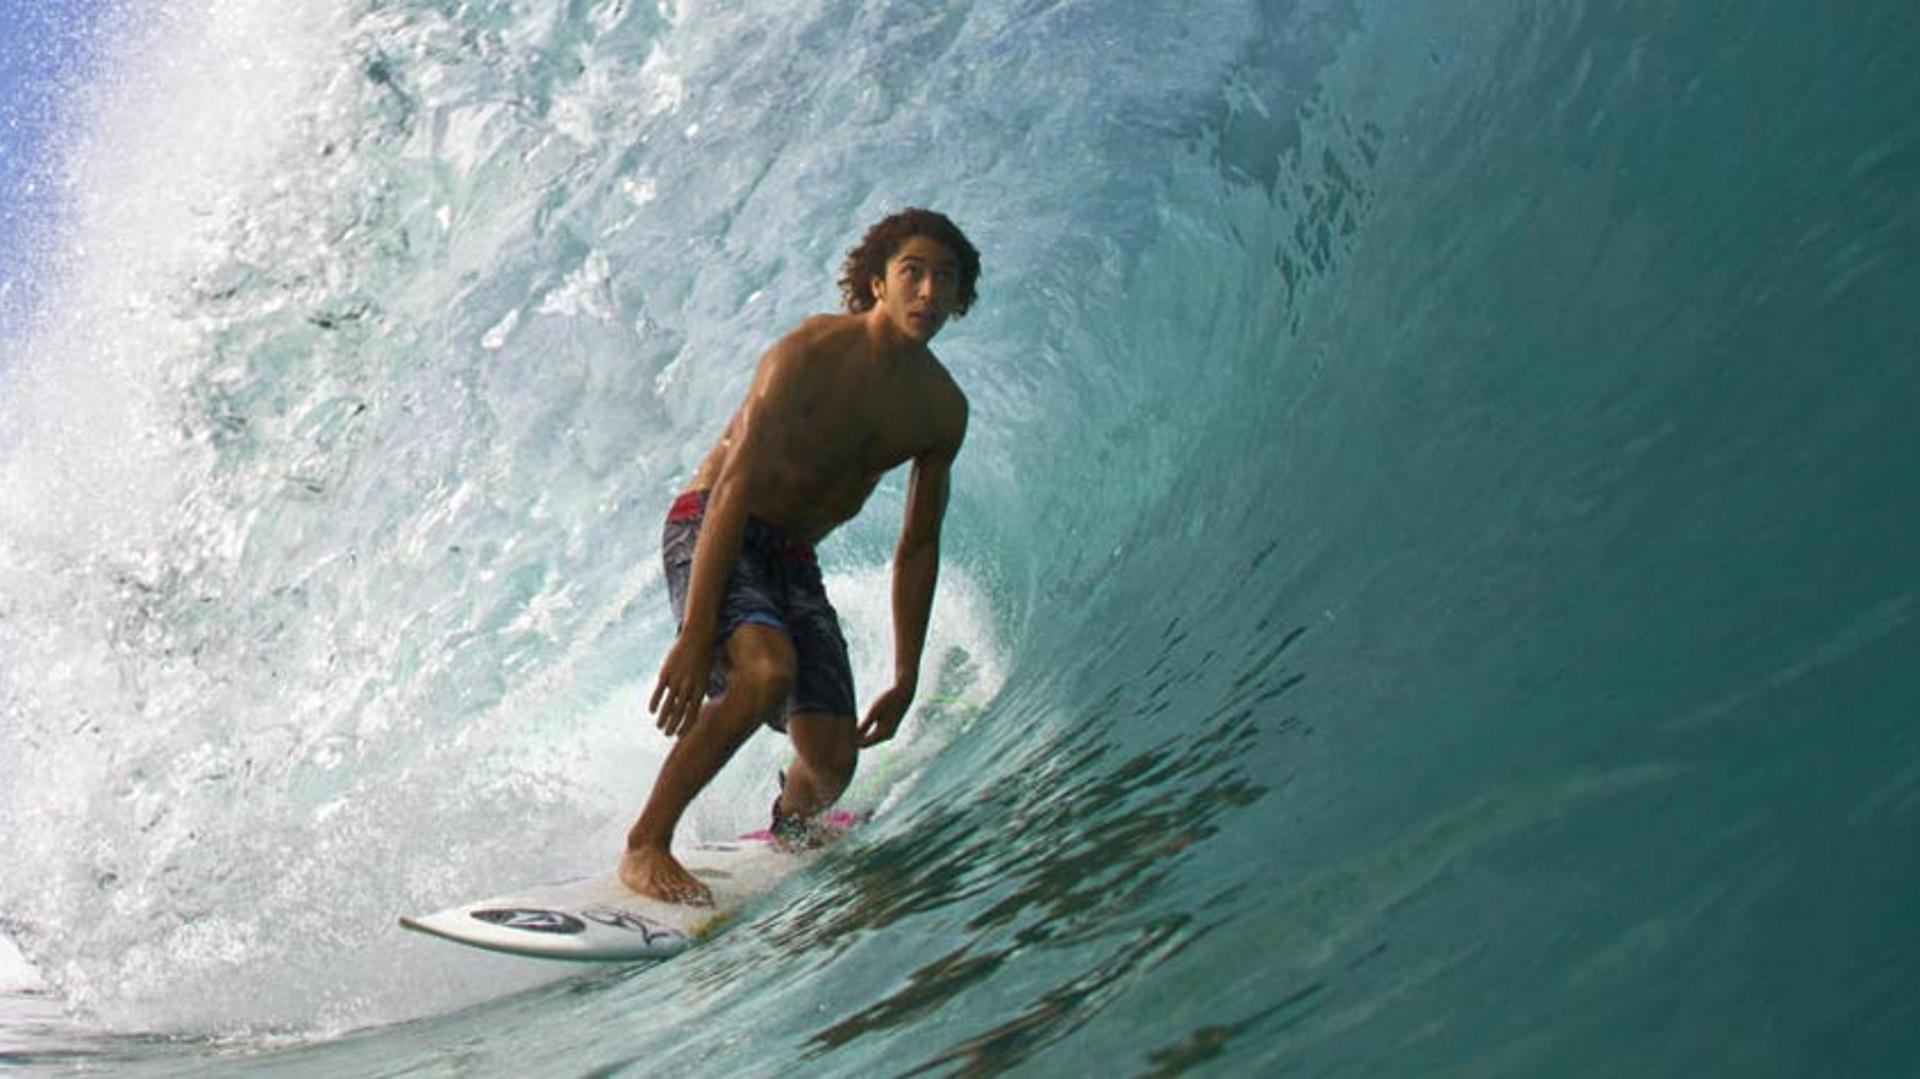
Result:
M760 361L747 390L747 401L728 430L726 457L707 492L707 511L701 538L693 545L693 570L687 578L685 622L660 662L660 678L653 685L647 710L668 737L680 737L693 728L707 699L707 678L712 670L714 632L720 624L720 595L726 578L739 561L747 516L774 465L781 445L781 428L793 411L787 407L795 388L799 348L781 340Z

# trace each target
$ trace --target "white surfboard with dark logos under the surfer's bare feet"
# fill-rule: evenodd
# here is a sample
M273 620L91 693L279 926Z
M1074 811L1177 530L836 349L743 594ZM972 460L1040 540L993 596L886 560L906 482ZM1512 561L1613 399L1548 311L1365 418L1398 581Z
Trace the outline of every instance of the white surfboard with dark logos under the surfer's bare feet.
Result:
M664 960L739 912L747 900L814 858L768 837L707 843L676 851L714 893L712 906L660 902L628 891L614 874L530 887L438 914L401 916L399 923L474 948L576 962Z

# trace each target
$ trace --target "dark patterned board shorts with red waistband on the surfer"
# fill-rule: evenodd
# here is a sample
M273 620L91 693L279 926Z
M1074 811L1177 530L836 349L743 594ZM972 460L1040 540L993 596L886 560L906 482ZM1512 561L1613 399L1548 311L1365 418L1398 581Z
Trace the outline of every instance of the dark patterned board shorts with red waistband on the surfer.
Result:
M687 580L693 576L693 545L707 516L707 492L685 492L674 499L660 534L660 559L666 563L666 595L674 603L674 620L685 624ZM795 712L824 712L854 718L852 664L847 660L847 637L839 614L828 603L820 580L820 559L804 543L787 540L780 528L747 518L739 561L726 578L720 595L720 622L714 632L714 666L707 685L708 697L726 691L728 634L745 624L772 626L793 641L793 693L783 708L768 716L766 726L783 731Z

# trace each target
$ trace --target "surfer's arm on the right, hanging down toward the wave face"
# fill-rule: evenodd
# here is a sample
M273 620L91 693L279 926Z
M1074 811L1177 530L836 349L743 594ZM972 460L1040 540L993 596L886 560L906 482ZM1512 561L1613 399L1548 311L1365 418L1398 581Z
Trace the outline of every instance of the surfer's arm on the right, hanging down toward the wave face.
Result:
M914 703L914 693L920 691L920 653L927 645L933 587L941 576L947 488L964 436L962 407L952 440L916 457L912 476L906 480L906 522L900 526L900 545L893 553L893 687L866 710L866 722L860 724L862 747L893 737L908 705Z

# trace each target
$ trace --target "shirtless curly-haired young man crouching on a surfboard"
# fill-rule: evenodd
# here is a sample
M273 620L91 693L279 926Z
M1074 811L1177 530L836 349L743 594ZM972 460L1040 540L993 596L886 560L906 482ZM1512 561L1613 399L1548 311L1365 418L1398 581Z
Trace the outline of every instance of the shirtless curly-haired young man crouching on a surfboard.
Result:
M973 303L979 252L947 217L906 209L874 225L843 271L849 313L814 315L766 351L666 516L660 545L680 635L647 710L676 741L620 858L620 879L641 895L712 904L670 852L674 826L762 722L793 739L797 760L772 814L774 833L791 837L847 789L862 747L893 737L920 683L947 480L968 417L927 342ZM858 722L814 545L906 461L893 685Z

